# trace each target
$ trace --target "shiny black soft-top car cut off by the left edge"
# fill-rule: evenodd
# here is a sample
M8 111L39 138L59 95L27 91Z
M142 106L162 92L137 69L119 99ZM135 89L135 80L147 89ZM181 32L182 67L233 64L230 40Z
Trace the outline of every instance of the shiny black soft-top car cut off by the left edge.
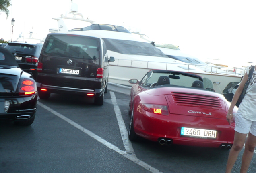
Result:
M0 119L12 120L17 125L31 125L36 104L35 80L19 68L9 50L0 47Z

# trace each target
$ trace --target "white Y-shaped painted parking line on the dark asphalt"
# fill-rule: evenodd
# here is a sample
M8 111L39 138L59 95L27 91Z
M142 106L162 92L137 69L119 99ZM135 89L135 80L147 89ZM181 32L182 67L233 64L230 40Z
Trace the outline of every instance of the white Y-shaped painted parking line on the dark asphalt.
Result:
M112 94L113 95L113 94ZM112 96L111 96L112 97ZM115 95L113 95L113 98L116 98ZM114 101L114 103L116 104L116 102ZM83 131L85 134L89 135L90 137L92 137L93 139L96 139L97 141L99 141L100 143L102 143L103 145L105 145L106 147L108 147L109 149L112 149L114 151L116 151L117 153L119 153L120 155L126 157L127 159L129 159L130 161L140 165L141 167L143 167L144 169L150 171L151 173L162 173L160 172L159 170L155 169L154 167L151 167L150 165L148 165L147 163L141 161L140 159L138 159L136 157L136 155L134 154L134 151L133 151L133 148L132 148L132 145L128 142L128 135L127 135L127 138L126 138L126 134L127 133L127 130L125 129L124 131L124 127L125 125L122 124L122 116L120 118L120 115L121 115L121 112L118 113L118 110L120 111L118 105L114 105L114 106L117 106L115 109L115 113L117 112L118 115L116 115L118 117L118 121L120 121L120 125L119 126L122 126L124 125L124 127L121 127L120 129L120 132L121 132L121 136L122 136L122 139L123 139L123 143L124 143L124 147L125 149L127 148L128 152L127 151L123 151L121 149L119 149L118 147L116 147L115 145L107 142L105 139L99 137L98 135L96 135L95 133L85 129L84 127L82 127L81 125L78 125L76 122L72 121L71 119L65 117L64 115L54 111L53 109L51 109L50 107L47 107L46 105L44 105L43 103L37 101L37 104L41 107L43 107L44 109L46 109L47 111L51 112L52 114L60 117L61 119L63 119L64 121L68 122L70 125L76 127L77 129ZM119 123L118 123L119 124ZM122 135L123 134L123 135Z

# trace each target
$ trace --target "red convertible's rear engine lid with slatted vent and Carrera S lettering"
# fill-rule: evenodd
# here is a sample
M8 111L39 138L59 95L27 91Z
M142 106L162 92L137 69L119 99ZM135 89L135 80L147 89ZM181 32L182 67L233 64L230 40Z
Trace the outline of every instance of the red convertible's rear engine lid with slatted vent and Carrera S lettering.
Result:
M219 93L201 89L160 87L145 91L165 95L170 114L226 119L229 102Z

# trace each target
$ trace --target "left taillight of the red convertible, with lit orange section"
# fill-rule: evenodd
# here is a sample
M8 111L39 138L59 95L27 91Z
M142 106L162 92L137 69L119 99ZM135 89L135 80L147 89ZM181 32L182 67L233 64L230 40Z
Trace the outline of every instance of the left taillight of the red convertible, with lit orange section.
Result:
M169 115L167 105L155 105L155 104L146 104L146 103L142 103L141 105L144 111L159 114L159 115L166 115L166 116Z

